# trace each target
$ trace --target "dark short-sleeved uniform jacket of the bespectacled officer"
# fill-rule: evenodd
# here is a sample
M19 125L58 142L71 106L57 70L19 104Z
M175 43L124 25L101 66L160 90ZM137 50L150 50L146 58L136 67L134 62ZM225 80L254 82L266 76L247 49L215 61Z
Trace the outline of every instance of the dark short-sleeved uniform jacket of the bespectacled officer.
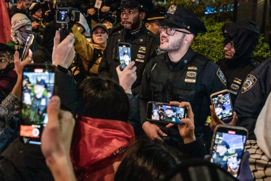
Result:
M195 115L195 134L199 136L197 134L202 133L204 123L211 115L210 95L226 89L226 79L219 66L191 48L179 65L172 67L169 61L168 54L162 53L146 65L140 89L141 124L147 121L148 101L188 101ZM154 124L167 135L181 138L177 125L166 129L166 124ZM172 135L169 130L173 132Z

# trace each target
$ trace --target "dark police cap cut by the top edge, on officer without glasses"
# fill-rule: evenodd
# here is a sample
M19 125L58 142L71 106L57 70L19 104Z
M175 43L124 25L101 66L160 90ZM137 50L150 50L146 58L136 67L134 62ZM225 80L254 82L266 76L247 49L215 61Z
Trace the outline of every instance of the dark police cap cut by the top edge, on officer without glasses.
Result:
M141 9L146 13L149 13L153 9L153 3L151 0L121 0L119 9L130 8Z

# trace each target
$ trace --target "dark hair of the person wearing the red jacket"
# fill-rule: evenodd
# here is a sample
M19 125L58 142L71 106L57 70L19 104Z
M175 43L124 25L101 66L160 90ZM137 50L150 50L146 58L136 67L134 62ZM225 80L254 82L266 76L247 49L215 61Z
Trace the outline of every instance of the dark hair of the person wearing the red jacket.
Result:
M100 119L114 119L127 122L129 99L123 88L109 80L99 77L86 79L79 86L83 116Z

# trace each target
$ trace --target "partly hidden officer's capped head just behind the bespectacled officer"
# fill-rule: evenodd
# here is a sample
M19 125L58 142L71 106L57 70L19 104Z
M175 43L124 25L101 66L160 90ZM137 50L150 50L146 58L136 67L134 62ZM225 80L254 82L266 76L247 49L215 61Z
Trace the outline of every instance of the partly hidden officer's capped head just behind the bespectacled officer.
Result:
M155 34L158 39L160 39L159 23L163 21L165 15L166 8L164 6L155 6L153 12L146 17L146 28Z

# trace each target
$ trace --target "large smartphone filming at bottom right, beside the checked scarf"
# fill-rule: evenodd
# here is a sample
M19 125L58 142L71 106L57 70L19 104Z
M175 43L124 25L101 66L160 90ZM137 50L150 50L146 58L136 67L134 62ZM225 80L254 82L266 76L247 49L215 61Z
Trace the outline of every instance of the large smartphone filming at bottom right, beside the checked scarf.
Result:
M237 176L247 136L248 132L243 127L218 125L211 141L211 162L226 171L230 167L233 175Z

